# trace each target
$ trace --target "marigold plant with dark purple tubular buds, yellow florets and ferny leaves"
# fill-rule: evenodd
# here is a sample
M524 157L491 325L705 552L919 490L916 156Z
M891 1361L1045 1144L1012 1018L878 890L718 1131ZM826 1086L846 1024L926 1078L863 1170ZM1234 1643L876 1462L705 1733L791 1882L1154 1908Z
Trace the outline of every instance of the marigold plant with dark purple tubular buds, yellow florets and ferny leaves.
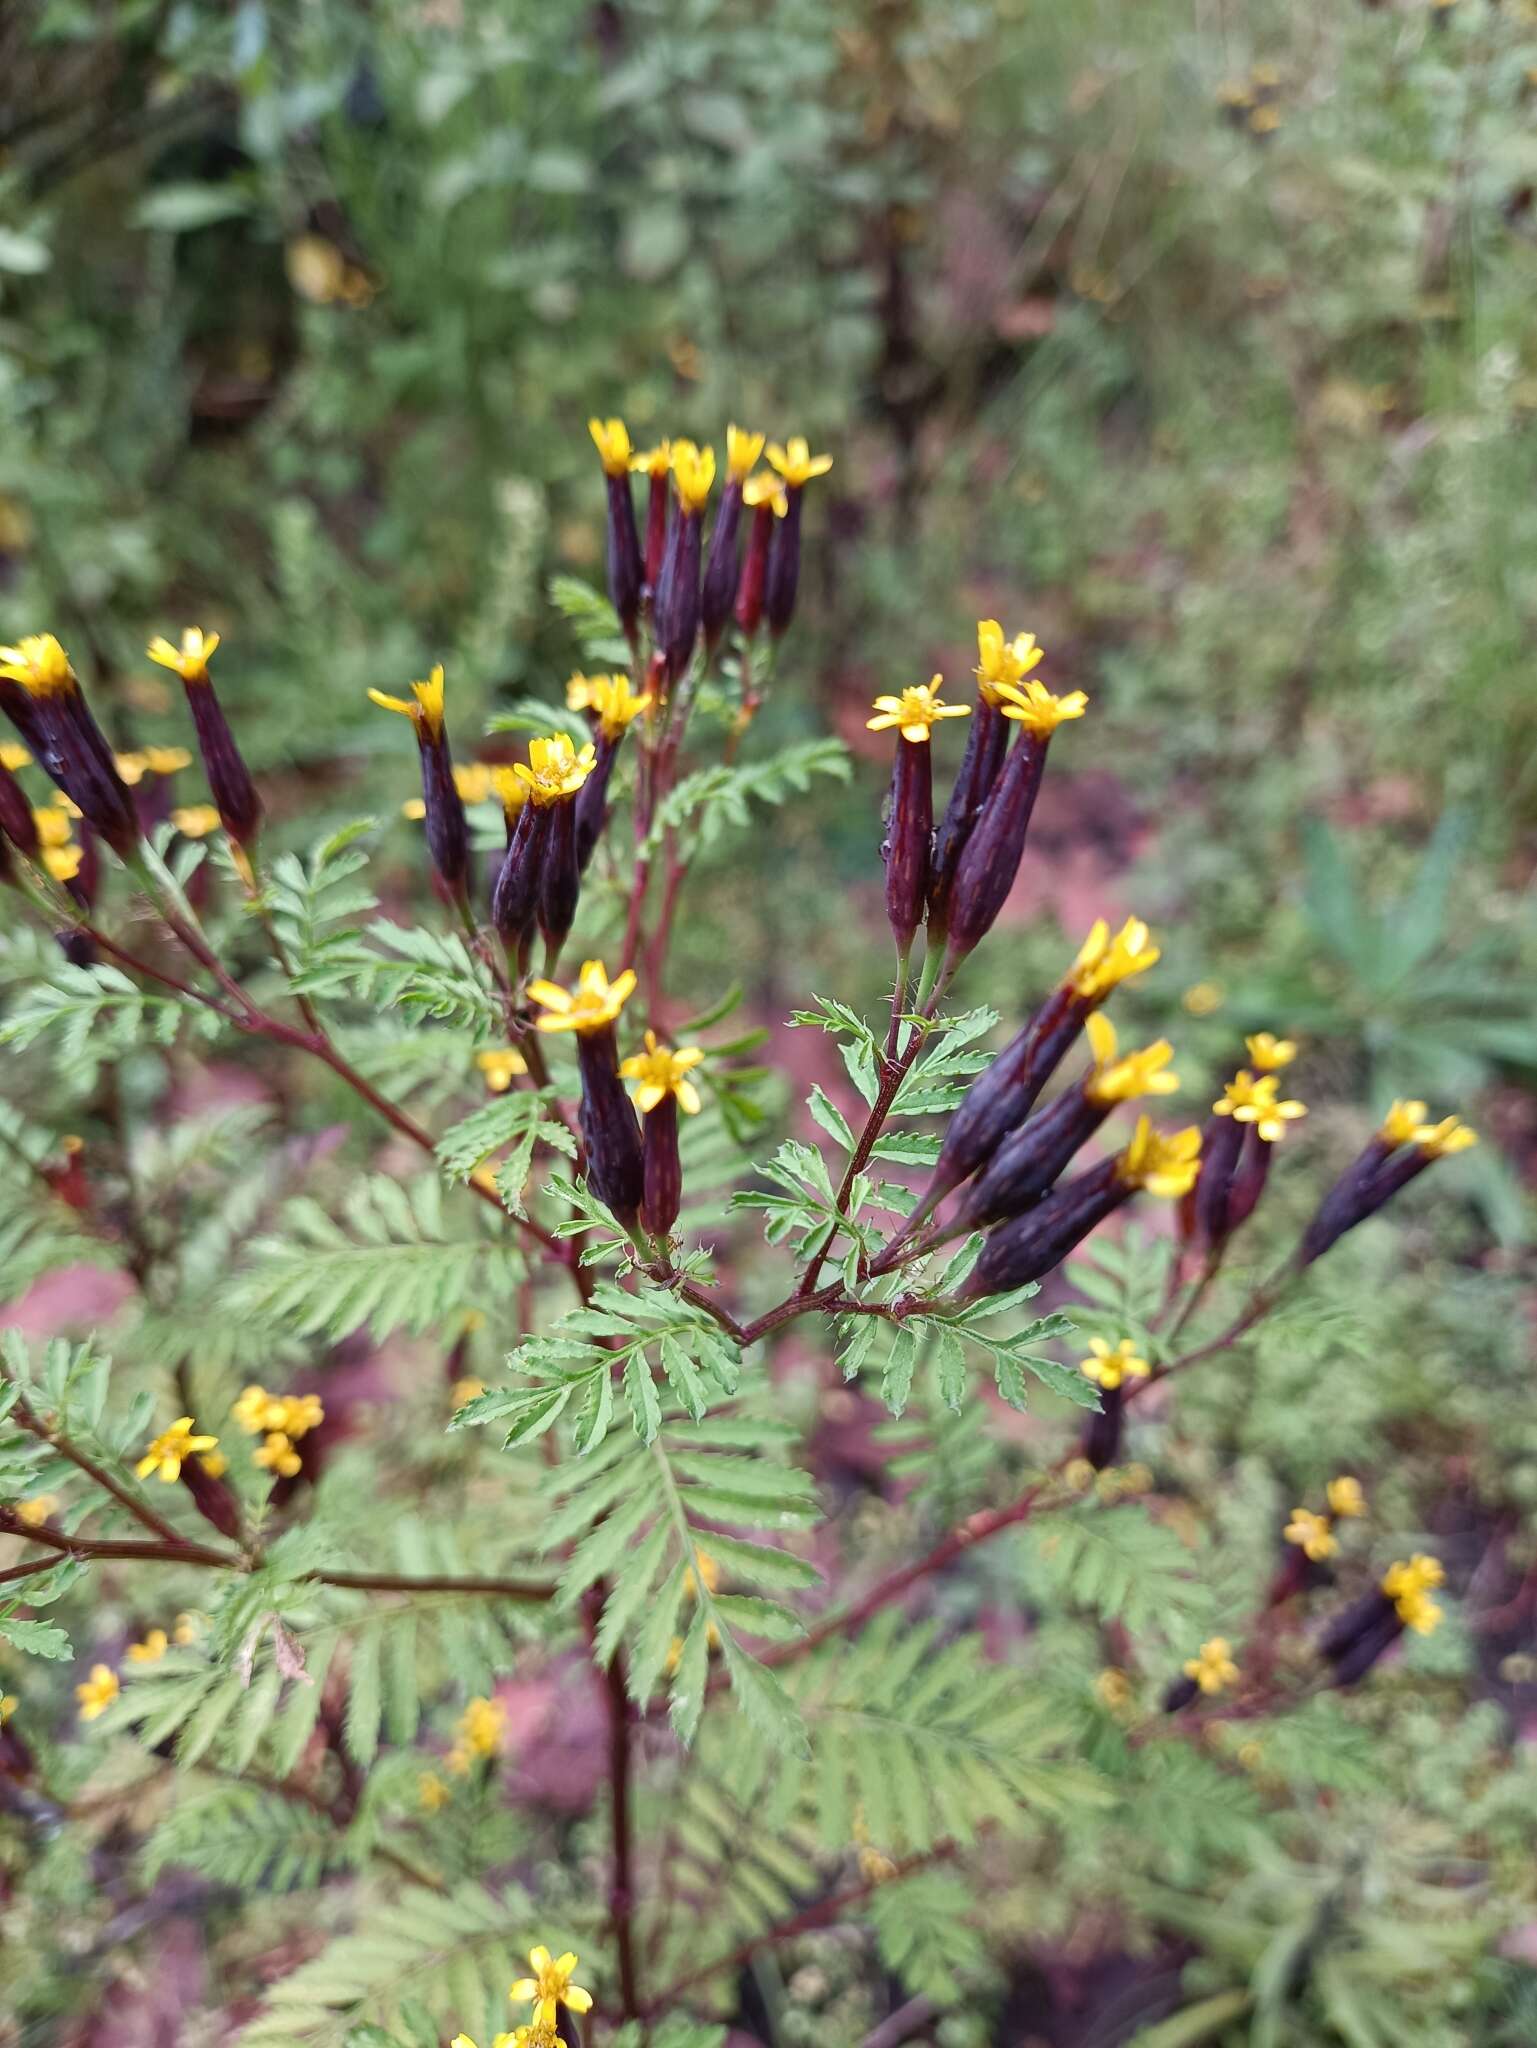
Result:
M0 1352L0 1776L61 1827L168 1829L156 1868L373 1886L252 1991L262 2040L279 2009L295 2040L396 2011L412 2038L484 2030L510 1982L498 2042L670 2042L807 1913L885 1929L902 1974L994 1835L1055 1853L1107 1786L1162 1812L1228 1716L1357 1686L1459 1581L1373 1530L1351 1473L1256 1509L1258 1595L1148 1503L1185 1376L1242 1378L1342 1237L1430 1167L1455 1184L1471 1128L1396 1102L1348 1159L1283 1094L1307 1077L1283 1018L1221 1071L1146 1028L1162 944L1125 911L1049 934L1025 985L998 926L1031 907L1045 776L1103 754L1090 692L996 618L969 678L883 676L881 817L830 733L764 754L754 729L771 694L809 715L783 647L832 457L736 422L637 453L594 414L590 440L609 604L568 604L578 645L486 731L488 678L424 659L369 690L387 823L303 858L268 846L219 633L148 649L197 760L113 752L53 633L0 649L0 885L35 963L0 1024L16 1143L55 1264L86 1247L133 1298L98 1341ZM730 1022L732 958L684 1001L670 942L730 834L775 889L764 807L814 776L881 844L891 991L869 1018L779 963L791 1026L830 1040L801 1116ZM273 801L285 840L299 805ZM984 946L1002 1014L963 1008ZM33 1108L55 1055L80 1130ZM238 1110L125 1145L203 1059ZM816 1452L861 1407L908 1432L861 1479L875 1563ZM1014 1634L978 1618L1000 1585ZM1068 1708L1037 1632L1051 1659L1092 1638L1090 1673L1113 1647L1115 1683ZM111 1745L100 1802L80 1759L47 1782L29 1692ZM135 1745L152 1796L125 1800ZM574 1950L527 1948L541 1925L592 1989Z

